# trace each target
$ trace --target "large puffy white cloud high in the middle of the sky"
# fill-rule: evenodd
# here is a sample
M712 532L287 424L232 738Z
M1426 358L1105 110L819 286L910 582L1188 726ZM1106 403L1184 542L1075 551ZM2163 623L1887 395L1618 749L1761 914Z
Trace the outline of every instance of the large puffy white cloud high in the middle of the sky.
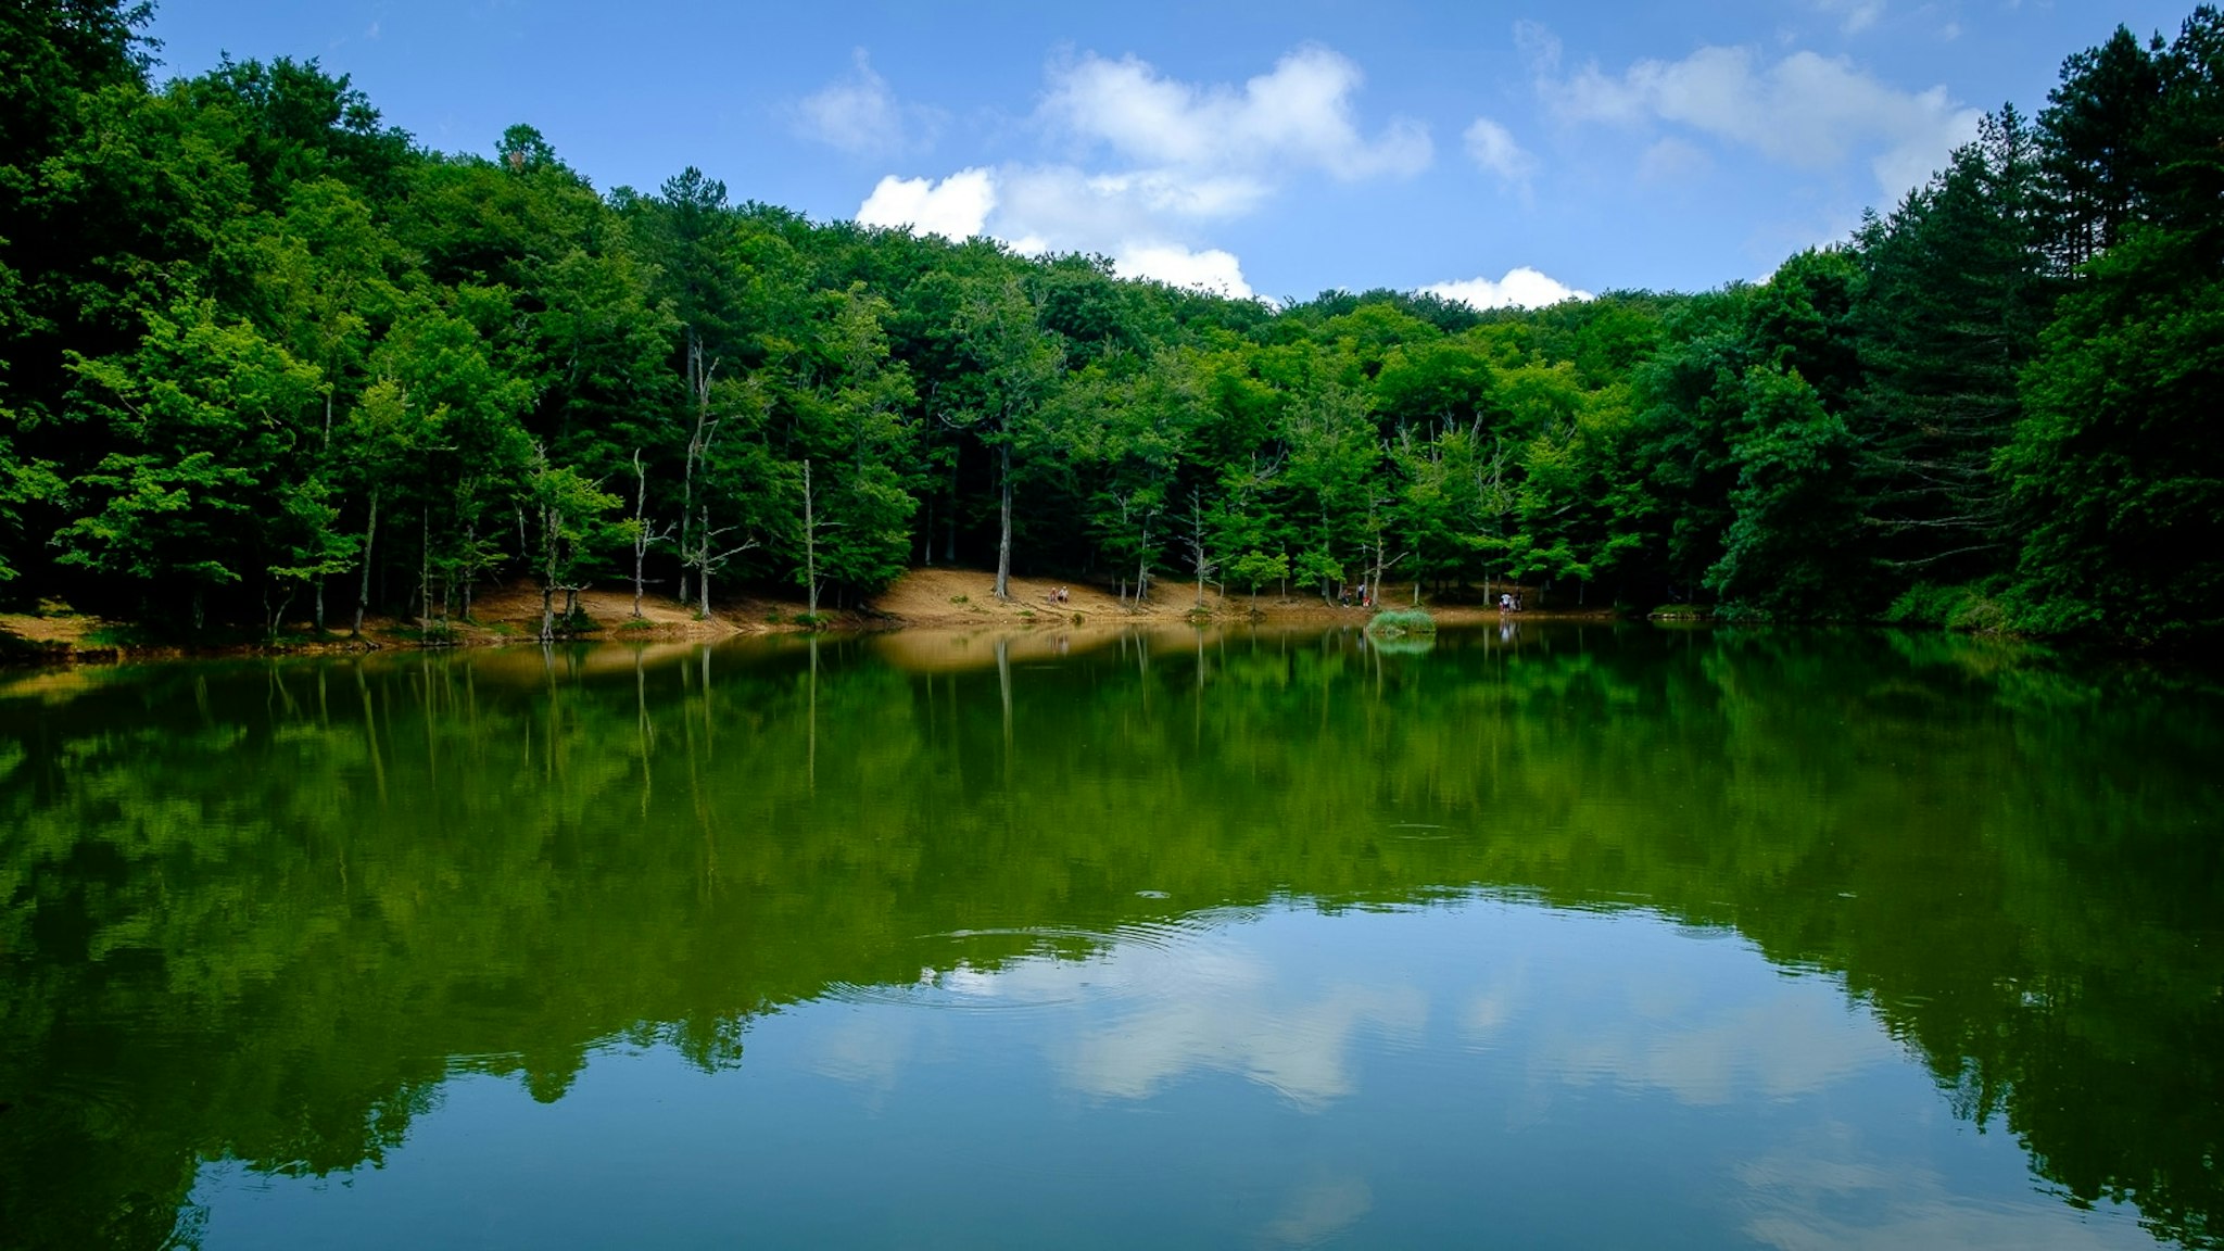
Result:
M1392 120L1366 138L1352 118L1363 76L1330 49L1281 58L1272 73L1197 87L1128 56L1085 56L1052 71L1041 118L1081 140L1159 169L1321 169L1334 178L1419 174L1432 158L1428 127Z

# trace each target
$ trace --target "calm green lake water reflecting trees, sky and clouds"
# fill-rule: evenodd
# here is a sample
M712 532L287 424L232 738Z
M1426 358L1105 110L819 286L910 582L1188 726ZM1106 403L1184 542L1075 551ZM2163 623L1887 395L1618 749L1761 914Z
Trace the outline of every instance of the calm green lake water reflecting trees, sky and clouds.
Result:
M2217 1247L2224 697L1882 632L0 674L0 1247Z

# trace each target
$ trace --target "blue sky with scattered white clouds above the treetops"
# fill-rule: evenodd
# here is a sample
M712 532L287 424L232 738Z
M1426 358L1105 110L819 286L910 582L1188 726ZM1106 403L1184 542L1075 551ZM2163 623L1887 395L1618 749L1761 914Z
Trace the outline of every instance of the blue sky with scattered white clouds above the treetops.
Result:
M814 218L1237 294L1704 289L1890 205L1977 114L2193 0L167 0L162 73L318 58L391 125L529 122Z

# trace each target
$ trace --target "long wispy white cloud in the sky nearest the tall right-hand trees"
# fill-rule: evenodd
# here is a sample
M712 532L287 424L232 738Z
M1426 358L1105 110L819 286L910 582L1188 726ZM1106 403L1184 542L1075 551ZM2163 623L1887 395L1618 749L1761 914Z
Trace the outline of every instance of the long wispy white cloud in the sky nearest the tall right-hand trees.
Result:
M1619 78L1597 65L1555 78L1557 45L1535 31L1517 38L1532 49L1546 100L1566 120L1672 122L1806 169L1868 156L1893 200L1975 138L1982 118L1944 87L1902 91L1846 58L1813 51L1759 65L1750 49L1701 47L1684 60L1641 60Z

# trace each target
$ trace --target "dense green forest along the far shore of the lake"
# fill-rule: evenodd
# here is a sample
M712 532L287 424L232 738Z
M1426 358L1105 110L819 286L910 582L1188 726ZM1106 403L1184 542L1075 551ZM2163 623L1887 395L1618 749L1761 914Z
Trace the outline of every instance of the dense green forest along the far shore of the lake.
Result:
M696 169L598 191L525 125L429 151L314 60L158 82L145 22L0 13L18 605L438 628L494 579L816 608L970 563L2224 628L2213 7L1766 283L1492 314L1228 301Z

